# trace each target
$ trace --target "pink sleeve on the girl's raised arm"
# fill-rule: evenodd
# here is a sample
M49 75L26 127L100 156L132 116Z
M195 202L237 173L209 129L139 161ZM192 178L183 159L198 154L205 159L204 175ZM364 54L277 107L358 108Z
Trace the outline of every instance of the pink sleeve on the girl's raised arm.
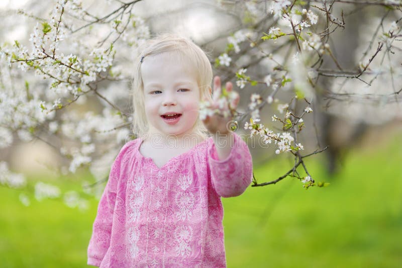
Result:
M213 140L208 148L212 184L221 197L241 195L253 176L253 163L247 144L237 134L233 135L232 149L226 159L219 160Z

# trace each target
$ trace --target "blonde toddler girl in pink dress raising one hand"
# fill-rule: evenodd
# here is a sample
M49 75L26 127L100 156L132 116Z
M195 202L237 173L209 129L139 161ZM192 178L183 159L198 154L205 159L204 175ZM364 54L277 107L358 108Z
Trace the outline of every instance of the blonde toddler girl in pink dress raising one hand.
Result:
M211 98L212 67L202 49L163 35L141 51L133 80L138 138L112 165L88 264L226 267L221 197L241 195L251 183L250 152L228 129L231 118L199 119L200 100L219 105ZM220 86L215 77L218 95ZM231 92L232 83L226 87Z

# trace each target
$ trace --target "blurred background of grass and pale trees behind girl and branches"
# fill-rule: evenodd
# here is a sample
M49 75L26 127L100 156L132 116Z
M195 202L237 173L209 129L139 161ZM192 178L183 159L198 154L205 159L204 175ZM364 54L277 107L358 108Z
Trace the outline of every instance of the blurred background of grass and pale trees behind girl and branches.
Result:
M56 2L3 0L0 3L2 48L14 40L29 47L37 19L50 18ZM344 27L334 31L328 44L342 69L355 71L350 76L359 73L359 64L374 55L377 42L382 40L381 35L387 33L392 22L396 21L400 33L400 6L386 6L388 2L355 5L334 1L332 14L338 16L339 21L343 20ZM82 9L95 14L93 18L102 18L121 5L122 2L113 0L82 1ZM214 74L224 81L236 84L236 72L241 68L247 68L247 75L253 80L264 81L268 74L273 75L277 62L285 66L297 53L294 40L289 38L258 43L262 33L267 33L272 26L289 32L287 26L273 18L271 5L272 1L149 0L135 3L130 14L142 18L135 27L143 24L144 28L134 27L136 32L115 42L118 70L113 69L115 66L112 69L120 76L116 81L100 83L99 92L112 100L122 113L129 114L131 104L127 96L132 59L136 55L136 42L140 42L131 40L130 34L149 38L165 31L188 36L206 50L214 65ZM313 9L314 5L318 3L306 1L304 6L319 14L319 23L325 26L325 14ZM73 15L67 13L66 17L77 20ZM108 25L94 25L73 38L95 44L109 34ZM314 30L319 29L317 25ZM245 34L247 32L249 34ZM236 33L243 33L247 38L237 42L228 39L235 38ZM231 42L239 45L240 50L228 52L231 65L216 64L216 59ZM250 46L253 42L255 44ZM305 146L305 154L329 146L324 152L305 159L316 182L329 183L329 186L306 190L296 178L286 177L275 185L249 187L240 197L223 199L228 267L402 266L402 112L400 94L397 94L402 84L402 47L399 43L384 46L383 54L379 53L367 74L361 75L370 85L359 79L323 75L316 87L306 88L306 98L314 100L313 113L304 118L306 128L299 134L299 140ZM78 53L80 47L66 44L61 50L67 55L70 50ZM269 53L275 61L267 57ZM330 73L329 70L336 69L330 55L323 56L322 60L321 71ZM38 79L33 71L7 68L2 58L0 92L17 92L18 88L25 88L26 81L33 90L48 88L51 83ZM296 82L296 78L292 78ZM279 104L294 96L293 86L290 83L281 87L274 96L277 102L260 110L261 123L281 131L271 117L280 114ZM274 92L264 82L255 86L247 84L244 88L235 86L235 90L241 96L241 112L247 111L252 94L260 94L265 99ZM4 96L9 95L2 96L6 105ZM107 131L124 123L106 110L108 103L95 94L84 97L84 101L64 109L67 111L56 111L52 120L59 122L59 130L53 132L49 120L35 125L38 131L30 135L2 121L0 130L7 129L13 137L11 142L0 141L2 267L86 266L86 248L99 195L105 187L111 163L130 133L128 127L108 132L109 136L98 140L104 144L96 145L96 151L90 152L93 159L90 164L72 165L73 148L83 143L82 136L74 129L82 126L67 126L69 120L72 121L68 113L77 116L74 117L76 122L92 120L103 125L100 129L93 127L94 132ZM56 95L46 93L42 98L51 102ZM297 104L295 110L303 110L305 106ZM1 118L6 117L5 111L0 112ZM247 134L242 126L248 118L239 121L238 133ZM92 138L95 140L94 136ZM109 144L110 140L113 142ZM294 159L285 154L277 156L273 146L261 148L252 139L248 143L258 183L273 181L292 168ZM74 172L71 172L72 166ZM7 184L6 176L18 178L18 174L26 178L23 188ZM39 182L43 185L38 186Z

